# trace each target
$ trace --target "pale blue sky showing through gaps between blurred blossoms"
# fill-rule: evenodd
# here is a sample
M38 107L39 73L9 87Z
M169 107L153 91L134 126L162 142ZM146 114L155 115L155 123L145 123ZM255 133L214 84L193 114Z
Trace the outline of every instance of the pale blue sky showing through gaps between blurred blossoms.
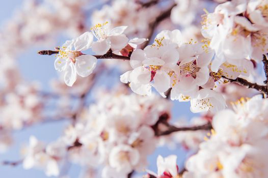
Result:
M0 7L0 23L3 26L4 21L10 18L13 15L15 9L20 8L22 4L21 0L12 0L12 1L4 1L2 2L2 6ZM62 39L60 41L67 40ZM60 44L58 44L60 45ZM41 48L35 46L24 51L18 58L18 63L20 66L21 73L23 74L26 80L32 81L37 80L42 83L45 90L49 90L48 82L52 77L57 77L57 73L53 68L54 58L52 56L41 56L37 55L37 51ZM119 81L119 78L116 80ZM187 118L192 117L194 114L190 111L190 103L174 103L173 107L173 116L174 118L178 118L179 116L187 116ZM14 136L14 145L10 148L10 150L2 154L0 156L0 161L8 160L8 161L16 161L20 159L19 150L23 144L28 143L28 139L31 135L35 135L38 139L49 142L52 140L56 140L63 131L63 128L68 125L68 122L53 122L46 123L42 125L36 125L31 128L24 129L22 131L15 131ZM181 155L182 152L168 151L166 148L157 149L155 154L149 157L150 167L149 169L155 170L155 162L158 154L163 156L168 156L170 154ZM181 165L183 159L178 159L179 165ZM70 177L78 177L79 174L79 166L72 165L69 170ZM43 171L37 169L24 170L21 165L16 167L10 166L0 166L1 177L46 177Z

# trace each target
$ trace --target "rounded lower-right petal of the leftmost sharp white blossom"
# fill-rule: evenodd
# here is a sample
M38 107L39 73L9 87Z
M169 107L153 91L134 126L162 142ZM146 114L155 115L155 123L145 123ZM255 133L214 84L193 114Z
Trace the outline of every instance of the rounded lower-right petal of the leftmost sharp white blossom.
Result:
M81 55L76 57L75 69L81 77L89 76L96 68L97 58L93 55Z

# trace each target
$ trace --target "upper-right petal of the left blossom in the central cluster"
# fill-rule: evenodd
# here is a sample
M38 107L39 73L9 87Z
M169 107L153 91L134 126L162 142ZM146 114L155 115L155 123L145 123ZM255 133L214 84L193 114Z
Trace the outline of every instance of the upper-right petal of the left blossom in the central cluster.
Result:
M172 68L179 61L179 53L176 49L170 49L161 56L161 59L165 61L165 67Z

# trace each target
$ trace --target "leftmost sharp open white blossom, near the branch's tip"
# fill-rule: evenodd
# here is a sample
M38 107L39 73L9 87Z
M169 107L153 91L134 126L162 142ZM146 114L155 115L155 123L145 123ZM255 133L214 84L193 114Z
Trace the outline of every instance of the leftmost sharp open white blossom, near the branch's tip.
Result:
M81 52L89 49L92 42L92 33L86 32L74 40L66 41L60 47L54 66L59 72L64 72L64 81L68 86L73 85L77 74L81 77L87 77L95 69L97 58L93 55L84 55Z

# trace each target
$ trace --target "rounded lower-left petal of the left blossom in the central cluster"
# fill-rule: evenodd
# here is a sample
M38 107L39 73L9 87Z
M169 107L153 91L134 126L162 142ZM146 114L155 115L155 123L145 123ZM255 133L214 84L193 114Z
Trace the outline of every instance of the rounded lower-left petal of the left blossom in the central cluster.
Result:
M129 79L135 83L148 84L151 81L151 71L144 67L138 67L129 74Z

